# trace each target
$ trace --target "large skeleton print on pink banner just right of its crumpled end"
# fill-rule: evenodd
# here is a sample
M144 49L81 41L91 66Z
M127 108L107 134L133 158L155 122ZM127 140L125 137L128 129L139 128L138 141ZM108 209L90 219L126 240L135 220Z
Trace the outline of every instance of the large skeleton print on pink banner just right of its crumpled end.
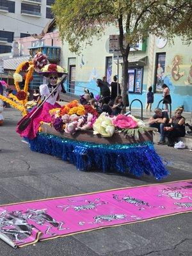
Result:
M54 218L52 218L49 214L46 213L47 209L28 209L26 213L24 214L24 218L28 220L33 220L35 221L36 224L38 225L44 225L47 226L47 230L45 231L45 234L51 234L54 235L50 232L52 227L57 227L58 230L65 230L69 228L63 228L63 224L65 224L63 221L56 221ZM48 223L48 225L46 224Z

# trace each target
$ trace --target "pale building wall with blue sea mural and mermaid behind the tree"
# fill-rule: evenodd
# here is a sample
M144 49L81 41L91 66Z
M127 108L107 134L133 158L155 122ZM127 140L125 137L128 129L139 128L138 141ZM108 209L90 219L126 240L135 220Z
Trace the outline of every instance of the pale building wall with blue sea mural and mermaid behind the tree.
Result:
M108 28L100 40L93 40L92 46L87 46L79 56L68 49L63 43L61 63L68 68L68 92L83 94L84 88L99 93L96 79L108 77L110 83L117 74L117 61L109 53L109 35L118 35L118 30ZM143 45L145 44L145 45ZM192 111L192 44L183 45L180 38L175 38L175 44L169 45L166 40L150 35L143 43L131 49L129 53L129 70L127 92L129 102L139 99L145 107L147 88L152 86L156 108L163 99L161 85L166 83L172 96L172 109L184 106L185 111ZM119 60L119 81L121 81L122 60ZM139 102L133 107L140 108ZM163 108L162 102L159 104Z

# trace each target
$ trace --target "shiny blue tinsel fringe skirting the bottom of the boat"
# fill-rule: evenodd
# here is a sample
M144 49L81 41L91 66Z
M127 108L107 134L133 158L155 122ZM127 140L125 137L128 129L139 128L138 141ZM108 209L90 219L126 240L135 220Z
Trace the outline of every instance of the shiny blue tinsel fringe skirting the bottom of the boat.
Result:
M145 173L152 174L158 180L169 174L150 141L106 145L69 140L44 133L39 133L34 140L28 141L31 150L61 157L63 161L76 164L78 170L116 170L137 177Z

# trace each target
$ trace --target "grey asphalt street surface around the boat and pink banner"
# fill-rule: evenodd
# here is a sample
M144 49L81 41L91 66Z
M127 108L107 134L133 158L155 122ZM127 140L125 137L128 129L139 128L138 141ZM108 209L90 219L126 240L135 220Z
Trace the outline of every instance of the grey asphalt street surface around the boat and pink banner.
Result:
M31 152L15 132L20 112L4 110L0 127L0 204L77 195L106 189L157 183L153 177L79 172L56 157ZM161 180L192 179L189 150L155 146L170 175ZM191 214L94 230L74 236L38 242L14 250L0 241L2 256L189 256L192 255Z

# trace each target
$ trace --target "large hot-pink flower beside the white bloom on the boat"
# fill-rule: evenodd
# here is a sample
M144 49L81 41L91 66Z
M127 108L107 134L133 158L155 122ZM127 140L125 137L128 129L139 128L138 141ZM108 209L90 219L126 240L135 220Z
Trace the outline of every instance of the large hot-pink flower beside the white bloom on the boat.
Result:
M137 122L134 121L130 116L118 115L113 118L113 125L118 128L136 128L138 126Z

